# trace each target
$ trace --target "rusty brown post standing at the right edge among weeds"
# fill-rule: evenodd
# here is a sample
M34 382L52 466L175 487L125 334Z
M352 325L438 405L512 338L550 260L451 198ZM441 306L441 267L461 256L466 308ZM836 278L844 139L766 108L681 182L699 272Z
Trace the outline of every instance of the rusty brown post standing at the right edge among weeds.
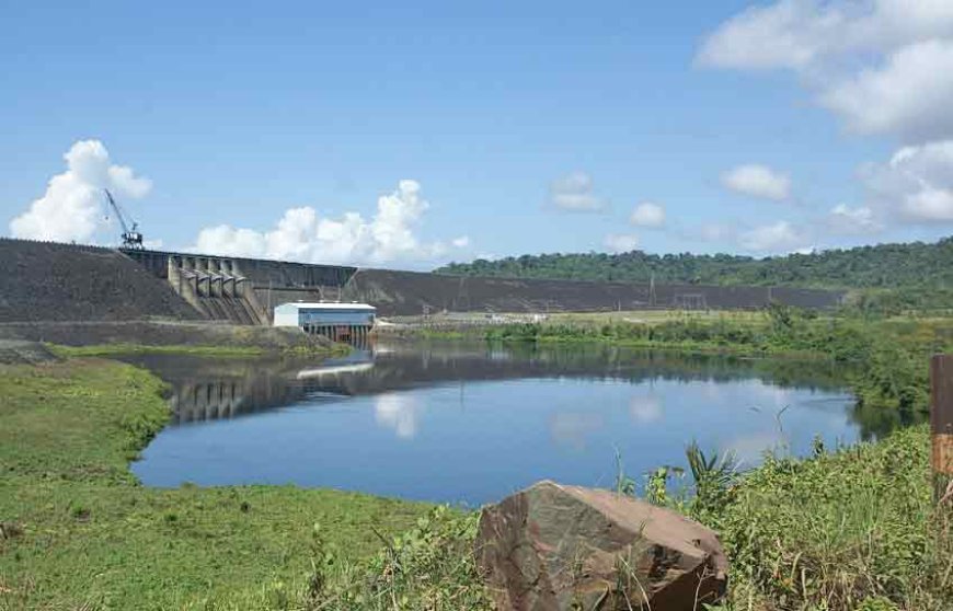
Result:
M930 361L930 428L933 440L933 495L953 503L953 355L935 355Z

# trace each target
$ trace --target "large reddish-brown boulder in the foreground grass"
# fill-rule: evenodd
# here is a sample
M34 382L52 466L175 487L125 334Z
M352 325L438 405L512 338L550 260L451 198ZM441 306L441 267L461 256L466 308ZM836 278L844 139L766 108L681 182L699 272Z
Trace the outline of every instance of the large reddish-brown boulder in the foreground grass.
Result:
M694 611L724 593L714 532L609 491L539 482L483 509L476 557L501 609Z

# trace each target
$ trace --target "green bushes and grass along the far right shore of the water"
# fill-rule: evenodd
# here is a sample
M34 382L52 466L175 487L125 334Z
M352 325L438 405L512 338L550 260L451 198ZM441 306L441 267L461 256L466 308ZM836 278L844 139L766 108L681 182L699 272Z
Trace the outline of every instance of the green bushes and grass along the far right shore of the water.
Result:
M483 331L502 342L605 342L754 356L812 356L854 367L845 377L861 405L928 408L928 359L953 349L949 319L818 318L774 306L760 319L684 318L656 323L521 324Z

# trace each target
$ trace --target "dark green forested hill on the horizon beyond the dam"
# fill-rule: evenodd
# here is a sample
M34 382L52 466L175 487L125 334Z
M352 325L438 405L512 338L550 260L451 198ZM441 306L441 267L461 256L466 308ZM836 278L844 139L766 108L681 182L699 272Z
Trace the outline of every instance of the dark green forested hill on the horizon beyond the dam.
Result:
M753 258L727 254L543 254L451 263L443 274L572 278L620 283L771 285L814 288L953 287L953 238L925 244L880 244L814 254Z

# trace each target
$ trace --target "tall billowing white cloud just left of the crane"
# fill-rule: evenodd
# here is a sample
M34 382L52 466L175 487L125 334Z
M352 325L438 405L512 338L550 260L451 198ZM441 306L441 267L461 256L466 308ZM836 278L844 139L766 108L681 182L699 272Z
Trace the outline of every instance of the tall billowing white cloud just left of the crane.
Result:
M115 165L99 140L80 140L64 155L67 169L49 180L46 193L10 222L14 238L89 242L106 224L103 189L119 198L139 198L152 183L130 168Z

